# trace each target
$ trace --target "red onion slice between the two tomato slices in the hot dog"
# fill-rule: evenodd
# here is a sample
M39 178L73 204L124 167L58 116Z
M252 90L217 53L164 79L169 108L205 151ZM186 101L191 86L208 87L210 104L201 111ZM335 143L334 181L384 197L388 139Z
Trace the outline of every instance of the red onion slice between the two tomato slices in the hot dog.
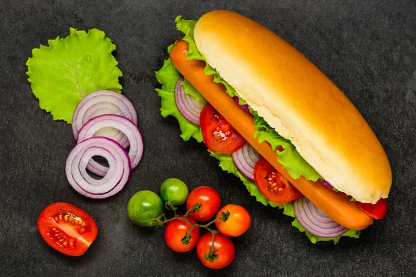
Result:
M242 175L254 181L254 167L260 159L260 154L250 145L245 143L242 148L232 153L232 160Z

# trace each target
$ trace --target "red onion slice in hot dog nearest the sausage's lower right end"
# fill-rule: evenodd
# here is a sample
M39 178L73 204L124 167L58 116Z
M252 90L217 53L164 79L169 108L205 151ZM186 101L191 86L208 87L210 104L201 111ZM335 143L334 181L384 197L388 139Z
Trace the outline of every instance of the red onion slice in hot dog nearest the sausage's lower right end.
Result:
M308 230L313 235L318 235L322 238L333 238L347 232L348 229L336 223L324 214L306 197L301 197L293 202L295 215L304 229Z

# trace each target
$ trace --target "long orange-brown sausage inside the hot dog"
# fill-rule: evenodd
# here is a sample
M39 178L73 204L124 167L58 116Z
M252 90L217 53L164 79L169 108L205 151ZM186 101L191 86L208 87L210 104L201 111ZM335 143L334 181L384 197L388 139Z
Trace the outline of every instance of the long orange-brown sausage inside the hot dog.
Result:
M352 230L362 230L372 224L372 217L364 213L344 193L337 193L319 181L309 181L304 177L293 179L277 161L277 153L270 145L266 142L259 143L254 138L257 129L254 127L252 114L241 109L225 92L223 84L214 82L214 76L205 75L205 62L187 60L188 50L187 42L177 40L170 54L173 65L263 158L338 224Z

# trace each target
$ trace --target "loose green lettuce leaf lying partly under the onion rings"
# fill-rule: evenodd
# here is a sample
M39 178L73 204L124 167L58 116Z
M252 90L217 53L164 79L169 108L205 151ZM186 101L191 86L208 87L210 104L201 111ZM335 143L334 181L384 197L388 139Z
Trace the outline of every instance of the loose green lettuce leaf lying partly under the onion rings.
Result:
M33 49L26 74L40 108L51 112L53 120L72 123L76 105L92 91L121 92L123 74L112 55L116 46L103 31L70 28L67 37L48 43Z

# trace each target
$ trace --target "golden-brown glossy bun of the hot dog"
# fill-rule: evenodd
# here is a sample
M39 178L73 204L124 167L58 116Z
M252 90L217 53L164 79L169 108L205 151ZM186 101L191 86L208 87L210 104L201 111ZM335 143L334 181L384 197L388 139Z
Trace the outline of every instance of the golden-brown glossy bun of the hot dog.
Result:
M335 188L360 202L387 198L390 163L352 102L304 55L255 21L203 15L198 50L239 96Z

